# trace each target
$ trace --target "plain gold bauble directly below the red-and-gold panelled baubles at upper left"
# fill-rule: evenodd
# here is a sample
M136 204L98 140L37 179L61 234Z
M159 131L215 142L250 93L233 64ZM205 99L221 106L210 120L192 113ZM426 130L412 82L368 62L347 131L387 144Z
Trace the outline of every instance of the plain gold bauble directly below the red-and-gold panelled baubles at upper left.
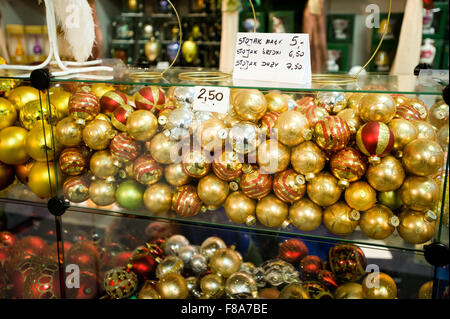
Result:
M148 141L158 130L156 116L147 110L137 110L127 119L127 132L136 141Z

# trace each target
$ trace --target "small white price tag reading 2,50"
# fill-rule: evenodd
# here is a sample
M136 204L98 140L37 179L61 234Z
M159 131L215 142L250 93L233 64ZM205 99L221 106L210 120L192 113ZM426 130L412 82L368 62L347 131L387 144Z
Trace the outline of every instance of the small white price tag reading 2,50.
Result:
M194 111L227 113L230 108L230 88L219 86L196 86Z

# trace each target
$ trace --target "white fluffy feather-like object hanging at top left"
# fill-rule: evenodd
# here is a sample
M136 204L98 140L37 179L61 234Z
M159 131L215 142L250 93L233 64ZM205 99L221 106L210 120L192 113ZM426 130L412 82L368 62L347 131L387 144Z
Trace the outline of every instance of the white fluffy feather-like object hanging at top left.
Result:
M77 62L86 61L94 47L95 24L87 0L52 0L57 23Z

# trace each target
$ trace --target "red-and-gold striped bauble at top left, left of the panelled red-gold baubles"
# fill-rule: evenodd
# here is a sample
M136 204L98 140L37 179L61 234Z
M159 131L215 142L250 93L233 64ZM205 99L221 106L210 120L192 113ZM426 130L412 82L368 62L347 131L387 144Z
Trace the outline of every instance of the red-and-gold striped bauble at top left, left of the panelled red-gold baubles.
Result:
M94 93L77 91L70 96L68 111L78 124L84 125L100 113L100 103Z

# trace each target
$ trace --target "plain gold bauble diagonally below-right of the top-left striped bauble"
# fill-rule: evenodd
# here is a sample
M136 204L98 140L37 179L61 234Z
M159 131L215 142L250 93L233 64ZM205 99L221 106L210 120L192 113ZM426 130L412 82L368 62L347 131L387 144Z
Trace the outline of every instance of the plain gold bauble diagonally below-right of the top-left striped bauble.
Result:
M111 123L95 119L89 122L83 129L83 141L87 147L93 150L108 148L111 139L117 134Z

